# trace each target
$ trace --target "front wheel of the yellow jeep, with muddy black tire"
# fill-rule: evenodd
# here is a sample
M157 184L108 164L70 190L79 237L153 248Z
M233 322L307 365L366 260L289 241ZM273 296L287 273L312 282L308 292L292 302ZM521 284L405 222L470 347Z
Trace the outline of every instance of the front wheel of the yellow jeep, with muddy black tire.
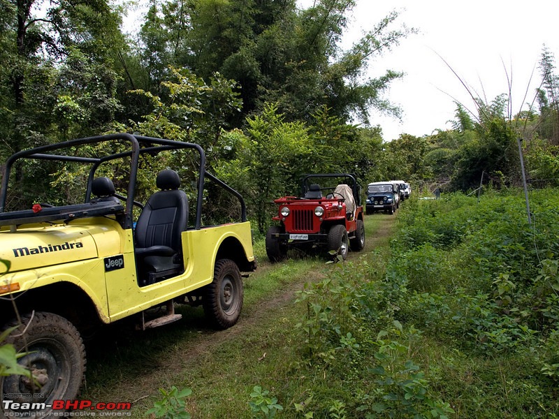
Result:
M85 374L85 346L78 330L66 318L41 311L24 316L22 325L10 334L6 343L13 344L18 353L27 353L18 363L29 367L35 377L35 380L21 375L0 377L1 406L6 416L22 413L6 406L7 395L13 397L13 402L31 406L78 397ZM43 416L42 413L46 415L51 410L25 413Z

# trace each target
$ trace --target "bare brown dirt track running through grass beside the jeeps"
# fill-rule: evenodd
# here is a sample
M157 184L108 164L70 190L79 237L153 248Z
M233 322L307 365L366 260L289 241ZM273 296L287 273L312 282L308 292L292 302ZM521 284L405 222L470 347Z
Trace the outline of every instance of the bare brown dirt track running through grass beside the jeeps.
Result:
M379 215L376 216L379 217ZM386 216L386 219L379 223L375 233L365 237L365 249L359 253L350 252L348 260L358 258L363 253L374 251L380 242L386 241L391 235L394 223L395 217ZM273 265L270 265L267 259L259 261L259 269L252 274L251 281L257 280L260 274L273 268ZM115 379L112 383L103 383L101 386L99 386L99 383L92 383L94 384L92 392L89 393L86 390L85 396L94 399L99 398L98 401L106 401L108 398L115 399L115 397L122 396L122 400L132 402L157 394L157 389L162 385L172 385L172 383L166 383L170 377L177 374L177 372L189 369L189 365L196 365L200 361L201 356L212 353L212 348L217 348L227 341L235 341L239 336L249 334L251 330L261 325L263 321L274 317L289 304L293 304L296 291L301 290L303 285L310 280L312 280L311 275L305 275L304 279L282 288L281 293L275 293L273 298L266 298L258 304L253 304L254 307L251 307L248 313L245 311L233 328L222 331L198 330L198 335L189 339L186 344L176 344L173 350L166 348L161 353L161 357L157 359L157 362L151 365L143 365L140 372L128 372L128 365L122 365L122 367L118 368L121 370L118 379ZM189 323L193 322L189 321ZM162 330L166 327L168 326L160 329ZM191 326L191 328L194 328L194 326ZM147 339L149 343L149 338L140 337L140 339ZM110 347L106 348L106 350L118 351L118 348L113 349ZM99 348L96 348L95 351L99 351ZM94 364L96 364L92 366L94 375L96 375L95 369L100 368L99 364L102 363L99 360L94 361ZM132 370L135 368L137 369L138 365L130 367ZM123 373L122 370L126 370L126 372ZM123 374L125 376L122 376ZM133 381L133 385L131 385L131 381Z

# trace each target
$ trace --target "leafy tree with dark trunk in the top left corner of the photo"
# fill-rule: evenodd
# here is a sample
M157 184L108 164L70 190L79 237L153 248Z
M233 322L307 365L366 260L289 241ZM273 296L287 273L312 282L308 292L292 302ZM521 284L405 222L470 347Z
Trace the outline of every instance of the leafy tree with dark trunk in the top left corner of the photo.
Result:
M51 1L44 8L41 4L4 0L0 6L6 13L0 20L0 109L7 117L0 122L0 132L8 153L45 142L51 124L57 124L52 110L57 105L73 107L67 98L61 104L55 94L57 66L68 54L80 50L96 63L106 62L120 34L119 15L105 0Z

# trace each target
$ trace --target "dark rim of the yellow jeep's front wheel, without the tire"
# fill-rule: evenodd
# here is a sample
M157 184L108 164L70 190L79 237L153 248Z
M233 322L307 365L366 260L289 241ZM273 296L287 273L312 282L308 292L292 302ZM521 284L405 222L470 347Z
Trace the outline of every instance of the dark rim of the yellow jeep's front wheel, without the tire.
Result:
M30 365L38 385L25 376L4 377L3 394L20 394L17 402L42 403L61 399L66 392L71 365L67 351L55 339L41 339L29 344L29 355L20 358L20 365ZM40 386L40 387L39 387Z

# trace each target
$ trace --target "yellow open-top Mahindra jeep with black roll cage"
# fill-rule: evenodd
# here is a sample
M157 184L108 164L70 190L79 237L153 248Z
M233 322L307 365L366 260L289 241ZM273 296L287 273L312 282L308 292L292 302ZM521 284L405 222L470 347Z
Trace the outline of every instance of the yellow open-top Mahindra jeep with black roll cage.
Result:
M205 170L199 145L122 133L14 154L0 190L0 316L19 325L6 342L33 378L0 377L0 409L34 416L75 399L82 338L103 323L153 328L182 303L231 327L241 272L255 269L244 200Z

